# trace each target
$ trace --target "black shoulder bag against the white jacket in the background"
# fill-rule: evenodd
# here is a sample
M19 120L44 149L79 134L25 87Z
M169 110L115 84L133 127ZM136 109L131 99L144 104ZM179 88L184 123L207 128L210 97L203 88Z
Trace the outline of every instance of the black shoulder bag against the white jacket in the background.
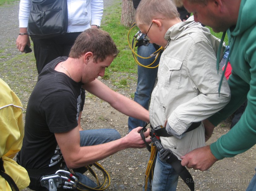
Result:
M67 0L32 0L28 35L33 39L51 38L67 32Z

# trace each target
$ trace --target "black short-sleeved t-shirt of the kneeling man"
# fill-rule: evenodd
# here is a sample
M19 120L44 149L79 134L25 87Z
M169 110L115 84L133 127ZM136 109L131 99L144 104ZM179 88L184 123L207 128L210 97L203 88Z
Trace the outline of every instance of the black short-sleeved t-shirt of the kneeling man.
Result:
M59 57L44 67L28 100L23 146L17 157L25 168L57 164L62 154L54 133L68 132L78 125L82 83L54 70L66 59Z

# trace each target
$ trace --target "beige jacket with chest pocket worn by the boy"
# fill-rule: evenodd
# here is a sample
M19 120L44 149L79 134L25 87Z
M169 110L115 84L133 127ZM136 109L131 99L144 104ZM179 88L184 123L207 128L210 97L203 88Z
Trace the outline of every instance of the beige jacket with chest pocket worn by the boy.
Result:
M224 79L218 93L222 74L221 68L216 69L219 40L208 28L194 22L193 16L172 26L164 38L168 43L151 95L150 124L157 127L168 120L170 127L181 135L192 122L207 119L222 109L230 100L230 90ZM181 139L174 136L160 139L180 159L205 145L204 127L201 124Z

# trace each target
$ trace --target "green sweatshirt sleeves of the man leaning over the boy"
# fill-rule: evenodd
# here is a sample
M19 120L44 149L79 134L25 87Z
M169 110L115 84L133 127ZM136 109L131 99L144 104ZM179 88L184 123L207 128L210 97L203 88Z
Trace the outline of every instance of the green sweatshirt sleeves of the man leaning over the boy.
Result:
M240 72L243 79L232 71L228 80L231 101L220 112L209 118L210 122L217 125L230 116L246 100L247 95L247 107L239 122L227 134L210 145L211 152L217 159L235 156L256 144L256 45L255 41L250 43L243 51L244 63L239 61L235 63L235 71ZM247 67L248 70L243 67L245 69Z

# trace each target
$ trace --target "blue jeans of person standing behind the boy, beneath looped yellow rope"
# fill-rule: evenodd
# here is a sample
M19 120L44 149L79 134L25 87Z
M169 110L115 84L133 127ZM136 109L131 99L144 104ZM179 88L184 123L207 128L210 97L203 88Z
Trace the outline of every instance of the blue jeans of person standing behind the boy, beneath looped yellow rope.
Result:
M137 49L137 54L142 57L149 57L152 53L156 51L153 44L149 44L148 46L141 45ZM154 57L150 59L142 59L138 57L138 61L143 64L144 66L149 65L154 61ZM160 56L156 60L156 62L151 65L157 66L160 60ZM158 67L152 68L145 68L138 65L138 81L137 81L137 89L134 94L134 101L138 104L142 105L145 109L149 108L149 101L151 97L151 93L154 88L156 76L157 76ZM128 118L128 128L129 132L137 127L143 127L146 123L144 121L135 119L133 117Z

